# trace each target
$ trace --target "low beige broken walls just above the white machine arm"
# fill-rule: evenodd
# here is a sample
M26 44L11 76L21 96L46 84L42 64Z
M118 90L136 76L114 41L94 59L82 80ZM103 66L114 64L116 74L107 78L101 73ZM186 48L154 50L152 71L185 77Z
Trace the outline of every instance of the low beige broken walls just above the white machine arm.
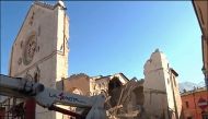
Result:
M109 83L118 79L119 84L125 85L129 80L123 73L116 73L107 76L89 76L84 73L73 74L70 78L58 83L60 90L66 92L79 91L80 94L86 96L99 95L107 93Z

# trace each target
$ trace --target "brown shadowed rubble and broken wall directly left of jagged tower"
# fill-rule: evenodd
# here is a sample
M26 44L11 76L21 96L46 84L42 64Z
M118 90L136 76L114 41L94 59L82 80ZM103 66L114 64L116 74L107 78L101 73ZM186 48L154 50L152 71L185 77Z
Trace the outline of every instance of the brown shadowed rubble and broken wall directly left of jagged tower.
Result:
M112 119L142 119L143 86L141 82L130 80L125 85L117 79L109 82L109 100L106 103L107 115Z

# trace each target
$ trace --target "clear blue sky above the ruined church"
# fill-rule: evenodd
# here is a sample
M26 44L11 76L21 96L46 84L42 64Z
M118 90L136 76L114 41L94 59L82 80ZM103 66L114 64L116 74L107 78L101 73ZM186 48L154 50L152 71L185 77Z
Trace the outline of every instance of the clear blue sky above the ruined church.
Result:
M32 2L1 3L1 73L8 74L11 47ZM66 5L69 75L123 72L141 79L145 62L160 48L180 82L204 81L201 33L190 1L66 1Z

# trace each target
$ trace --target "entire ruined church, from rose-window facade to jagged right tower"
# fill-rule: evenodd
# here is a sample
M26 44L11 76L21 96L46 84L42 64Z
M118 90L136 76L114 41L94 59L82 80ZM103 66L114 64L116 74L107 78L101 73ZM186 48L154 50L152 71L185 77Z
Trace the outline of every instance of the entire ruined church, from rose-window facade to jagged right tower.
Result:
M45 86L85 96L104 94L112 119L177 119L181 111L177 73L155 50L145 64L145 80L123 73L107 76L73 74L68 78L69 17L63 2L36 1L31 7L12 46L10 76L26 78ZM1 102L5 119L68 119L39 107L35 100L8 97ZM79 108L65 107L82 112ZM20 112L21 111L21 112Z

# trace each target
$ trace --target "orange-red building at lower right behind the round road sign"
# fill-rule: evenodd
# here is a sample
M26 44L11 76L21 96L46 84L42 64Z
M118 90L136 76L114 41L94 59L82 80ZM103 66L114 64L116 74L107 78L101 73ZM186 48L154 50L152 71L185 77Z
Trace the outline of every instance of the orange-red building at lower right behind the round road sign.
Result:
M208 92L205 87L181 94L182 119L208 119Z

